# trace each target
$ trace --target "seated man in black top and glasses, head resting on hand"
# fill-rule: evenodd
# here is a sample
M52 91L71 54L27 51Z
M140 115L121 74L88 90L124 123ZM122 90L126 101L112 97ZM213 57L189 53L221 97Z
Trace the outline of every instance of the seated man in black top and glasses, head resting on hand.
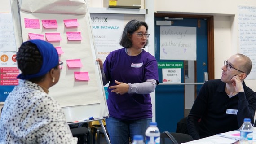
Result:
M187 128L194 140L237 130L244 118L254 123L256 93L244 83L252 61L235 54L221 69L221 79L203 84L188 116Z

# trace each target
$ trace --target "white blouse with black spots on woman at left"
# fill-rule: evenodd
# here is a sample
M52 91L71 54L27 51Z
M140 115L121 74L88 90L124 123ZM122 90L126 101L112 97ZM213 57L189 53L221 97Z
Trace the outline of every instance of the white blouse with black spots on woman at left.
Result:
M4 102L0 144L77 144L60 105L35 83L19 80Z

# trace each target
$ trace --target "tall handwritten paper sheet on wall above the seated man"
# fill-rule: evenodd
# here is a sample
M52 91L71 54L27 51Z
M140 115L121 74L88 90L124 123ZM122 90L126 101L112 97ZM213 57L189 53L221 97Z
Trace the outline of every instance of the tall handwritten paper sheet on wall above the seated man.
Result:
M252 70L246 79L256 79L256 7L238 6L240 53L250 57Z

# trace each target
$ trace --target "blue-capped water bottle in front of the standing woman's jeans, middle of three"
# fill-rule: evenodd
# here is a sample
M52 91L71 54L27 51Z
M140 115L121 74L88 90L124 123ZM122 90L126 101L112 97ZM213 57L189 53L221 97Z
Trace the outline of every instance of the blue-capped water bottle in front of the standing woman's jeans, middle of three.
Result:
M160 144L160 131L156 122L150 122L146 132L146 144Z

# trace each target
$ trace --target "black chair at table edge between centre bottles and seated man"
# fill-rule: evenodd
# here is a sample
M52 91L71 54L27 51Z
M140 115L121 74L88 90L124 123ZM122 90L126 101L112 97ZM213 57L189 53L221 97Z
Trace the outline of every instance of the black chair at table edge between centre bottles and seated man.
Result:
M175 132L169 133L168 131L162 132L160 139L161 144L181 144L193 140L193 138L188 134Z

